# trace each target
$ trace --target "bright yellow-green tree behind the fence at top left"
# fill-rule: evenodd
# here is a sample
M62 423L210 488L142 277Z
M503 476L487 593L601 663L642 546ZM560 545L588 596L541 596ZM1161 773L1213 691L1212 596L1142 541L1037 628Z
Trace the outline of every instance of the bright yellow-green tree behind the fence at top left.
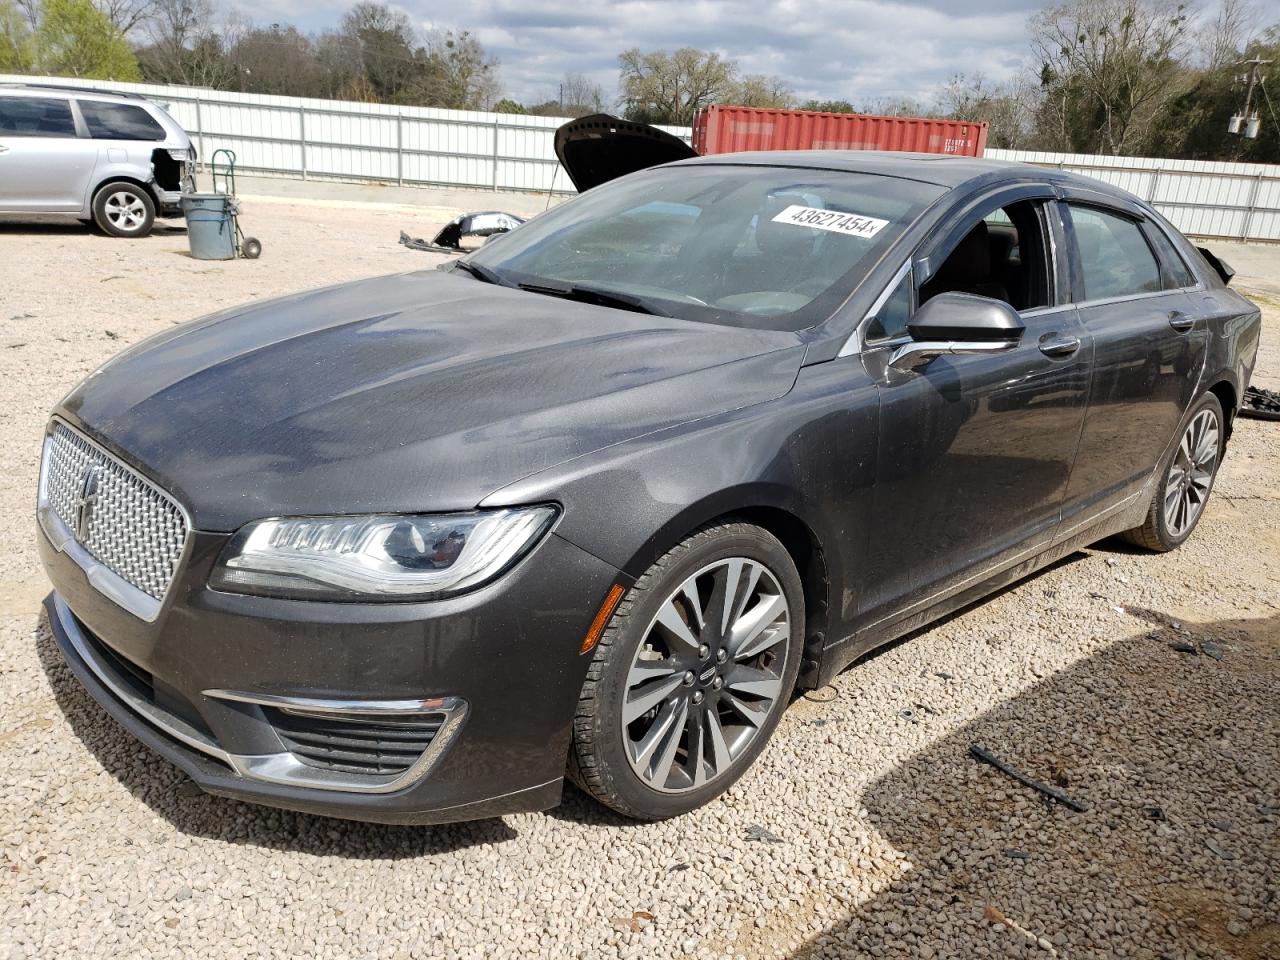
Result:
M138 81L142 72L124 35L90 0L45 0L36 31L36 67L44 73Z

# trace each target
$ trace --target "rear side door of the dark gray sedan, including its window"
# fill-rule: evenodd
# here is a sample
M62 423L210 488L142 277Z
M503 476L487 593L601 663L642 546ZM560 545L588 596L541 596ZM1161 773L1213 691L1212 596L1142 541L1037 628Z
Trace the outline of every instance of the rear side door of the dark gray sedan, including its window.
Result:
M1069 195L1062 216L1094 357L1064 504L1065 520L1083 524L1142 493L1194 399L1208 325L1189 296L1194 278L1162 262L1158 228L1140 207L1082 192Z

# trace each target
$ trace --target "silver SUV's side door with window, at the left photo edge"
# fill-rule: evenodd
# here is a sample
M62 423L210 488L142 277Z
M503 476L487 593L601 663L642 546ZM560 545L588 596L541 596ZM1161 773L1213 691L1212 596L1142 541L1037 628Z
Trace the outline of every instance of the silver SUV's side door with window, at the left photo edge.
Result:
M79 212L95 154L69 100L0 95L0 211Z

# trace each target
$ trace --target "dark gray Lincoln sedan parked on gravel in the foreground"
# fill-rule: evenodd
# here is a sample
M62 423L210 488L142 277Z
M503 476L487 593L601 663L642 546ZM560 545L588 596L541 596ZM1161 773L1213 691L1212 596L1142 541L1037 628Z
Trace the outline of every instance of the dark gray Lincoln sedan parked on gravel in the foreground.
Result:
M1260 316L1140 201L869 152L577 173L445 271L186 324L54 412L58 641L209 792L425 823L567 771L680 814L873 646L1194 530Z

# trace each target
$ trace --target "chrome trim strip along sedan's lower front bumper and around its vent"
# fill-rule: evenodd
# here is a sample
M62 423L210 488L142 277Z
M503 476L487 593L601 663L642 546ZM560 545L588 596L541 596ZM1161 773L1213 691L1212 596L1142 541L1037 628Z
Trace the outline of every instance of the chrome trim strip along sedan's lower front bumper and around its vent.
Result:
M205 691L206 696L291 709L298 713L364 713L374 716L444 714L444 722L431 739L430 746L413 762L412 767L394 776L356 774L311 767L302 763L288 750L284 750L283 745L279 751L269 754L233 754L220 748L179 717L143 700L129 690L128 686L119 682L111 671L99 660L88 644L88 639L84 636L84 631L81 630L79 623L76 621L70 607L56 593L54 594L54 613L58 617L59 626L67 635L68 643L79 659L93 673L97 681L124 707L161 733L227 764L237 776L244 780L347 794L392 794L397 790L413 786L431 772L444 755L444 751L457 739L462 723L467 717L467 703L457 696L433 698L430 700L316 700L312 698L234 694L225 690ZM429 708L425 707L428 703L433 705Z

